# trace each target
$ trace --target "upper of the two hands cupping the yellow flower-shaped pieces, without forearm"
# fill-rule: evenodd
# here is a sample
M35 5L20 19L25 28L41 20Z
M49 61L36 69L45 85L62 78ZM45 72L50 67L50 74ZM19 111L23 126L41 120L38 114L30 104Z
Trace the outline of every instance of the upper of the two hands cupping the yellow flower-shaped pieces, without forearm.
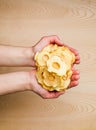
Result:
M58 36L52 35L52 36L42 37L40 39L40 41L32 47L33 54L34 54L33 58L32 58L33 59L33 65L32 65L33 67L35 67L34 56L35 56L36 52L41 51L44 47L46 47L49 44L57 44L57 45L60 45L60 46L68 47L70 49L70 51L72 51L74 53L75 57L76 57L74 64L80 63L80 56L79 56L78 51L75 50L72 47L69 47L68 45L64 44L63 42L61 42Z

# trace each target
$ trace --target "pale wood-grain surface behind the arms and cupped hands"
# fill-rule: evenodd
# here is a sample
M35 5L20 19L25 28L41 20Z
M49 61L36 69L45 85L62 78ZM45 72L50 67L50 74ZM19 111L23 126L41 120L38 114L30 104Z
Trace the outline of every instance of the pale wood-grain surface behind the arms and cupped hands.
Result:
M51 34L79 50L80 85L54 100L1 96L0 130L96 130L96 0L0 0L0 44L30 46Z

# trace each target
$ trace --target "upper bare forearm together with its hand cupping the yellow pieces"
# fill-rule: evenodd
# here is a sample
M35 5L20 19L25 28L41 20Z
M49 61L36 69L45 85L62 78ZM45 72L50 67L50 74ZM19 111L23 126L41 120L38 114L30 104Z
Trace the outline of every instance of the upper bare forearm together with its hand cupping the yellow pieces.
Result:
M36 52L41 51L49 44L58 44L67 46L59 40L57 36L45 36L32 47L3 46L0 45L0 66L29 66L35 67L34 56ZM80 57L77 50L67 46L76 57L75 64L80 63Z

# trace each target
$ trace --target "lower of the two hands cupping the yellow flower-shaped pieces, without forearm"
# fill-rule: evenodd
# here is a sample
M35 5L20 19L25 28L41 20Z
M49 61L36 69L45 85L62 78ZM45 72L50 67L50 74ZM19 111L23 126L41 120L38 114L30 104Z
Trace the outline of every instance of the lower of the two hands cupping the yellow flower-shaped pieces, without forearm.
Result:
M36 70L35 69L32 70L31 72L29 72L29 79L30 79L29 80L30 81L30 87L28 89L35 92L36 94L40 95L44 99L57 98L60 95L65 93L65 91L50 92L50 91L42 88L42 86L40 84L38 84L38 81L36 79ZM77 86L79 84L78 80L79 80L79 72L74 69L73 75L72 75L72 78L71 78L71 83L70 83L68 89Z

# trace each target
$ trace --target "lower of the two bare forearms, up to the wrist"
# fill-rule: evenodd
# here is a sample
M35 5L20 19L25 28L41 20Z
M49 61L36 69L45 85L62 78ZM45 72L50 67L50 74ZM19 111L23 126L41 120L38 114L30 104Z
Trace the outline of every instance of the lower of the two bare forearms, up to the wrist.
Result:
M28 90L28 72L13 72L0 75L0 95Z

